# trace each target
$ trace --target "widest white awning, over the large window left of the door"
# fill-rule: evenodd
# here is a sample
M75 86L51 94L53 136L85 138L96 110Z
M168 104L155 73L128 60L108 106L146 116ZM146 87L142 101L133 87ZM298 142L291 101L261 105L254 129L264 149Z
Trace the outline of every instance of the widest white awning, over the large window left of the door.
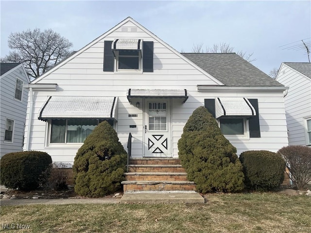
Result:
M51 96L38 115L44 121L71 118L118 120L118 97Z

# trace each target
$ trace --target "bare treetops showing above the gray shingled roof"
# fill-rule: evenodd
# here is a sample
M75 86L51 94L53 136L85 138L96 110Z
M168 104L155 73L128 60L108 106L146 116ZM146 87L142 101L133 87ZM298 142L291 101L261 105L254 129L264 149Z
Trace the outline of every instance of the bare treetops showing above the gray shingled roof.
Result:
M230 53L230 52L233 52L234 50L234 47L230 46L230 44L227 44L227 43L213 44L212 47L206 47L205 50L203 49L203 45L204 44L202 42L193 44L192 52ZM243 51L237 51L236 53L248 62L256 61L255 58L252 58L254 53L246 54L246 52L243 52Z

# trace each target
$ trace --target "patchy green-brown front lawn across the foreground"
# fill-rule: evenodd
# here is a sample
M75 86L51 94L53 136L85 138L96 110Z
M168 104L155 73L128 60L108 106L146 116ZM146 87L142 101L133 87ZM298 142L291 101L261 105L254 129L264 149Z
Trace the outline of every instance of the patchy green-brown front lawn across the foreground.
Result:
M1 232L307 233L311 197L209 194L205 204L1 206ZM13 225L12 225L13 224ZM17 224L23 230L17 230ZM25 229L29 225L30 229ZM7 229L14 226L15 229Z

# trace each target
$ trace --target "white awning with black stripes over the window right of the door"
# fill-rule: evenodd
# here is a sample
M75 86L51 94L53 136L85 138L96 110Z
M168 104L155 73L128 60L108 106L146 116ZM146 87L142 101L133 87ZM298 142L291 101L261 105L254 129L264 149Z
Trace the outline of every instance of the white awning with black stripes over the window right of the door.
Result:
M216 118L221 116L256 116L256 110L246 98L215 98Z

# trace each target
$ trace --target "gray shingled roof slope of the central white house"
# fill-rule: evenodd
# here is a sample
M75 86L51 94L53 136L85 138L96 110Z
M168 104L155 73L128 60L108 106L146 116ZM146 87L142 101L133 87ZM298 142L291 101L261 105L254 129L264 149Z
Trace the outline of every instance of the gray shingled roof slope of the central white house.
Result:
M283 86L236 53L182 53L226 86Z

